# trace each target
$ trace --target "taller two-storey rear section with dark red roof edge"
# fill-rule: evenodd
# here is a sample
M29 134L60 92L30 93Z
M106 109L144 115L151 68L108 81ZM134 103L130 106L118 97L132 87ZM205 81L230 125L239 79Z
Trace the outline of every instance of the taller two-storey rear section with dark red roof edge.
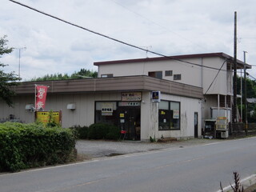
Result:
M94 62L98 78L148 75L202 87L202 126L205 119L226 115L231 119L234 58L224 53L187 54ZM237 60L238 69L251 66Z

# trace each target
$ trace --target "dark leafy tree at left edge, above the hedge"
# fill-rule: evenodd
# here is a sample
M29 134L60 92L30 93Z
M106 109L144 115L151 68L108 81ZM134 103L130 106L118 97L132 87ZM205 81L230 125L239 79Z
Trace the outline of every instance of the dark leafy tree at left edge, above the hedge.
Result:
M9 48L7 46L8 40L6 35L0 38L0 58L4 54L10 54L14 48ZM0 99L2 99L8 106L13 106L14 91L11 90L11 86L16 86L18 84L18 76L14 72L5 73L2 70L3 67L7 65L0 62Z

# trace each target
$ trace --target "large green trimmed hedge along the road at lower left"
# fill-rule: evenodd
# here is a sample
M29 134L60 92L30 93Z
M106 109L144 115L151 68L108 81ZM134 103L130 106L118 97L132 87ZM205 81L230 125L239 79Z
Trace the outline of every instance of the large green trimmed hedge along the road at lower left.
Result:
M6 122L0 124L0 171L68 162L74 147L72 130Z

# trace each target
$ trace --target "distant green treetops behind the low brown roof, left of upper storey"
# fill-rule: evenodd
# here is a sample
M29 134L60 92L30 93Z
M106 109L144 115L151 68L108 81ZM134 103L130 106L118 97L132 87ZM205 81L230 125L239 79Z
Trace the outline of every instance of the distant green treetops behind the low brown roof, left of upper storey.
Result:
M51 80L66 80L66 79L79 79L79 78L97 78L98 73L93 70L81 69L71 75L68 74L46 74L42 78L32 78L31 81L51 81Z

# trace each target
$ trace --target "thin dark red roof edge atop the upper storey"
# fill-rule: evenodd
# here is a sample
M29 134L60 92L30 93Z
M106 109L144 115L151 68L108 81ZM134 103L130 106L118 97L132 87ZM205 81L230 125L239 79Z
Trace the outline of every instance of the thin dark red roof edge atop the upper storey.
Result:
M158 62L158 61L166 61L169 59L182 61L182 59L186 59L186 58L212 58L212 57L225 58L230 62L233 62L234 60L234 58L232 58L230 55L220 52L220 53L210 53L210 54L182 54L182 55L157 57L157 58L135 58L135 59L107 61L107 62L94 62L94 66L101 66L101 65L108 65L108 64L122 64L122 63L131 63L131 62ZM237 60L237 63L241 65L246 65L247 69L251 69L250 65L240 60Z

